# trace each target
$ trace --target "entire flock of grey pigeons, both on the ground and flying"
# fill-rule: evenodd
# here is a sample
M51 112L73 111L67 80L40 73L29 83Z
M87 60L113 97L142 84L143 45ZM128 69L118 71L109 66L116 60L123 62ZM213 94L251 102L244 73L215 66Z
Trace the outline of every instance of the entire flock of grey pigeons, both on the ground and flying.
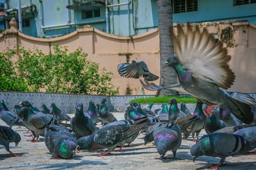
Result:
M79 149L93 151L107 148L97 156L107 155L118 145L121 145L122 150L125 143L133 142L140 131L146 131L145 145L154 141L161 160L166 159L164 155L167 151L172 151L173 159L177 159L176 151L181 145L181 138L186 139L190 134L196 142L191 147L194 161L202 155L221 158L220 163L212 168L224 165L226 156L253 150L256 147L256 101L249 95L226 91L236 77L229 69L231 57L227 55L226 48L223 48L221 41L216 42L205 28L200 32L199 27L192 29L188 23L187 32L179 24L177 30L178 40L171 31L176 56L168 57L163 68L172 67L179 83L160 86L149 83L159 77L150 73L143 61L121 63L117 69L125 78L138 79L143 76L144 81L140 81L147 90L171 88L195 97L198 101L193 114L187 111L184 104L179 109L177 101L170 99L169 108L163 103L162 109L155 112L150 107L142 109L138 104L131 104L125 111L125 120L117 121L103 99L97 105L91 100L86 112L83 111L83 104L77 102L73 118L61 112L54 103L51 104L51 112L42 105L43 113L28 101L22 101L19 106L15 106L19 109L16 117L8 111L2 100L0 118L10 128L0 127L0 144L12 156L19 156L9 150L9 142L18 145L20 141L20 135L11 129L11 126L18 125L32 131L31 142L38 142L40 135L45 137L48 150L54 152L56 158L71 158ZM203 104L208 106L203 108ZM104 125L100 129L95 126L99 121ZM199 139L202 129L207 135ZM227 141L229 145L225 145Z

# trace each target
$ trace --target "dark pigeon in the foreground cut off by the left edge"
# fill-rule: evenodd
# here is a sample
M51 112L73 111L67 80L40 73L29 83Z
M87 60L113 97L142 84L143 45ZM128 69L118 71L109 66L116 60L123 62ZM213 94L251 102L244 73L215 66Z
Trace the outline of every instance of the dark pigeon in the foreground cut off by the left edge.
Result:
M20 142L20 135L16 133L13 129L7 126L0 125L0 145L5 146L7 152L11 154L11 156L21 156L15 155L13 152L10 151L9 144L11 142L15 142L15 146L18 146Z

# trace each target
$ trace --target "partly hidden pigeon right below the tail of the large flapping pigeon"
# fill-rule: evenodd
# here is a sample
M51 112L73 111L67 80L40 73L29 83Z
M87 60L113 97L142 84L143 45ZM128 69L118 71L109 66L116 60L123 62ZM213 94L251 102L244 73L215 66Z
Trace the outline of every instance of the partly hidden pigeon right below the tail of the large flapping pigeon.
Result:
M227 109L220 108L218 111L218 119L224 121L228 126L241 125L242 122L238 121L234 114L230 113Z

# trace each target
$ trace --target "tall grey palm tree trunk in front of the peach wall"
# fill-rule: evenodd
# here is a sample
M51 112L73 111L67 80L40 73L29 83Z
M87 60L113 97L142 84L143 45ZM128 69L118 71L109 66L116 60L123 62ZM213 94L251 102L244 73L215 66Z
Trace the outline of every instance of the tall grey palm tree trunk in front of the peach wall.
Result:
M158 27L160 40L160 84L174 84L177 82L176 72L170 67L162 69L167 58L174 55L174 44L171 41L170 28L172 30L172 4L171 0L158 0ZM159 92L157 93L159 94ZM160 91L160 96L177 95L174 90ZM179 94L178 94L179 95Z

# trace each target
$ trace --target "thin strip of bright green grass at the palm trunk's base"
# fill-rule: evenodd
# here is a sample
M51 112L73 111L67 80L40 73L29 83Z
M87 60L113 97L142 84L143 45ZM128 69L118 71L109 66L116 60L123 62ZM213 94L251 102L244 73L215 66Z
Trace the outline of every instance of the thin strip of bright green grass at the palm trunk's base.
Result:
M176 99L177 103L196 103L197 99L195 97L191 96L161 96L161 97L142 97L138 99L133 99L129 101L129 104L131 102L133 103L141 103L141 104L146 104L146 103L169 103L170 99Z

